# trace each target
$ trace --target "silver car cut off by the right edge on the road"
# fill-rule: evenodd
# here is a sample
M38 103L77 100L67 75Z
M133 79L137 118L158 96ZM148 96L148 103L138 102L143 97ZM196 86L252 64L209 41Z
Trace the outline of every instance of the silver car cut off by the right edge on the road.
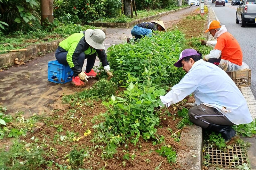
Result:
M236 24L241 22L241 27L246 23L256 22L256 0L240 0L236 9Z

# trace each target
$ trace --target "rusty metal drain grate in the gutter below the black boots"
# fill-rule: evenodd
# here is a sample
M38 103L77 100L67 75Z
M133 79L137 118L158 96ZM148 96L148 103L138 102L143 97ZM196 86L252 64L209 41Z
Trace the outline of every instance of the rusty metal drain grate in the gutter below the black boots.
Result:
M205 144L204 156L209 154L210 159L206 160L209 164L220 165L222 167L236 168L236 166L247 163L247 153L244 147L235 144L232 149L226 152L212 148L210 145Z

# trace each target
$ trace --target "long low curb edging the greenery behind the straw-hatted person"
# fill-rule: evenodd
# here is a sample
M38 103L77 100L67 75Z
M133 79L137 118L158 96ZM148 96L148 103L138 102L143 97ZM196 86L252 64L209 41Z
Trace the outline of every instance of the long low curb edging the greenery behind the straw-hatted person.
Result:
M135 24L138 24L140 22L149 21L149 20L152 20L154 18L162 17L164 15L168 15L170 13L177 12L177 11L180 11L180 10L184 10L184 9L187 9L187 8L190 8L190 6L186 6L186 7L180 8L180 9L171 10L171 11L167 11L167 12L162 12L162 13L150 16L150 17L145 17L145 18L134 20L132 22L124 22L124 23L117 23L117 22L116 23L114 23L114 22L92 22L89 25L97 26L97 27L118 27L118 28L131 27L131 26L134 26Z

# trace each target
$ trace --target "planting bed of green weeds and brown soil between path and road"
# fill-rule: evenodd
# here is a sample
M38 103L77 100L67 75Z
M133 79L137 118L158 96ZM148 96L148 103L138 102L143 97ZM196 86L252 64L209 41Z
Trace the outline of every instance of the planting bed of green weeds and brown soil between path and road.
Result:
M192 124L182 106L195 100L190 95L158 110L163 106L159 96L185 75L173 66L183 49L195 48L203 54L211 50L199 42L204 19L193 13L180 21L190 20L183 27L179 23L167 32L157 31L157 36L113 45L108 60L114 77L105 79L100 67L99 81L64 95L68 107L53 109L49 117L5 115L8 108L1 106L0 169L178 169L177 152L189 149L180 134ZM196 21L203 21L196 27L200 34L191 37L187 33ZM252 136L256 122L234 129ZM207 138L220 149L230 149L232 144L222 139L214 133Z

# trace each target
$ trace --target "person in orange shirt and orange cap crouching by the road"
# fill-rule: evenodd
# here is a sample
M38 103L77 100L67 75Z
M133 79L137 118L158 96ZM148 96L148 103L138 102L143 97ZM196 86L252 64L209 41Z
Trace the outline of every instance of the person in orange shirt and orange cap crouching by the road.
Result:
M248 69L243 62L242 49L231 33L228 33L225 25L219 21L212 21L205 33L210 32L217 41L202 41L203 45L212 46L210 54L204 56L204 60L219 66L226 72Z

